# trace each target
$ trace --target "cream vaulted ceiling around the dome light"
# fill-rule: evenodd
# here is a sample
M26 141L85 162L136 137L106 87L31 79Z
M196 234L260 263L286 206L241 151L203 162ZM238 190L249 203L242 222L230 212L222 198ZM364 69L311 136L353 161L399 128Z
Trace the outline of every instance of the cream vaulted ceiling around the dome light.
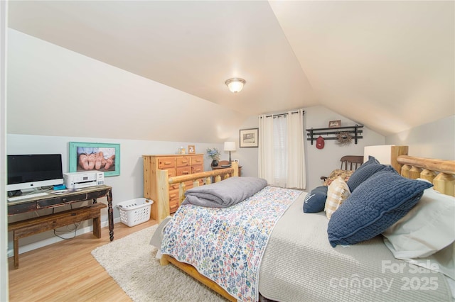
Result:
M10 1L9 27L246 115L323 105L388 135L455 114L454 7Z

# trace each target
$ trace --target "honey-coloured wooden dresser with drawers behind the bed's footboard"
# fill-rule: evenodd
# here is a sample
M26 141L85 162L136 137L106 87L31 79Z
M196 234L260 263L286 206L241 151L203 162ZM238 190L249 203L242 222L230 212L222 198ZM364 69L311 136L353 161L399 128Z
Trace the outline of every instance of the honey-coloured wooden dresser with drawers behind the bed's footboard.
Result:
M144 160L144 197L154 201L151 206L151 218L158 217L158 171L168 170L168 176L180 176L204 171L203 154L186 155L142 155ZM192 181L187 181L186 189L193 187ZM178 208L178 184L169 185L169 213Z

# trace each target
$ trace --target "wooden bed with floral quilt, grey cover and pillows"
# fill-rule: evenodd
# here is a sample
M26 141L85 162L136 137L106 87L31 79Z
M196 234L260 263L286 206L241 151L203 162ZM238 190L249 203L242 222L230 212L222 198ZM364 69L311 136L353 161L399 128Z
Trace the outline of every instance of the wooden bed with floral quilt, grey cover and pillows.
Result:
M190 180L188 177L195 185L198 179L210 184L215 178L215 184L210 184L212 187L222 186L223 181L239 181L243 177L235 177L235 163L231 168L200 175L168 178L163 172L163 191L168 184L181 184L183 205L172 218L164 218L151 238L151 244L159 248L161 264L176 265L230 301L258 301L259 298L272 301L454 301L455 201L453 197L435 191L432 182L439 191L453 195L455 161L400 155L396 157L394 167L400 170L401 176L391 166L373 159L373 164L363 164L365 167L358 170L365 174L371 166L370 172L374 170L375 173L363 181L359 177L365 175L360 174L353 174L348 179L355 188L350 196L344 196L345 202L338 205L330 219L328 208L314 213L302 211L306 201L317 195L312 191L306 194L267 184L244 201L225 208L186 201L185 193L191 195L191 190L198 191L198 188L185 190L184 182ZM384 171L376 171L379 169L376 164ZM337 181L328 186L328 195L333 195ZM410 184L412 189L408 187ZM373 186L375 189L371 189ZM371 201L382 191L386 192L386 200L397 198L405 199L405 202L393 201L401 206L389 206L387 211L373 207L363 208L359 213L358 208L353 208L353 205L358 206L355 202L365 200L362 196L369 196ZM163 200L159 203L166 204L165 194L161 197ZM266 212L267 219L259 221L260 227L247 220L247 212L255 216L255 213L267 211L272 199L279 200L278 204ZM385 206L388 202L385 199L378 199L373 204ZM441 204L445 208L439 208ZM262 209L254 212L257 206ZM382 212L374 219L368 215L362 217L364 212L371 211ZM224 220L232 216L242 217L238 221ZM346 220L346 217L350 219ZM366 223L365 228L365 219L379 221L382 229L379 231L375 223ZM355 225L359 221L363 223L362 228ZM428 228L421 228L422 221L432 223ZM264 225L267 228L263 228ZM343 230L345 227L348 230ZM354 235L350 228L356 230ZM416 230L410 236L407 234L410 232L403 231L407 228ZM210 234L213 230L215 235ZM234 232L231 238L229 232ZM254 237L255 241L238 242L238 238L250 238L248 236ZM419 236L425 236L427 241ZM240 244L245 247L240 248ZM408 247L414 250L409 251ZM251 252L253 248L259 248L259 254Z

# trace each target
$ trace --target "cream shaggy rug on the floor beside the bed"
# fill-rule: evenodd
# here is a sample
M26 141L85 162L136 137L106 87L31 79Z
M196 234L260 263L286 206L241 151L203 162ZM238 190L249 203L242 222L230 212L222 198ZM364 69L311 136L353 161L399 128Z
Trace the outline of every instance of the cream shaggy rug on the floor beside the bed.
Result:
M159 264L156 248L149 245L156 228L97 247L92 255L134 302L226 301L172 264Z

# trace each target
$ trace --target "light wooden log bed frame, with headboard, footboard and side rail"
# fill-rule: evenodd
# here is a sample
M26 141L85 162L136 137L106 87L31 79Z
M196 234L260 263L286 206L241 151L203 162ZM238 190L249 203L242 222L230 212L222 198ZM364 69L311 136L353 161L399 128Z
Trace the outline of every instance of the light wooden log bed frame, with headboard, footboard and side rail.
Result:
M432 181L434 184L434 189L437 191L446 194L455 196L455 160L435 160L424 157L411 157L407 154L407 146L397 146L392 152L392 167L400 171L400 174L403 177L410 179L427 179ZM237 176L238 167L236 162L232 162L232 167L227 169L219 169L211 172L201 172L198 174L191 174L188 176L180 177L167 177L167 171L163 171L160 175L160 191L159 194L159 204L166 206L168 209L168 194L167 188L169 184L180 184L180 194L179 202L181 203L184 199L185 193L185 184L184 181L193 180L194 186L198 186L198 179L205 179L205 184L211 183L211 177L215 177L215 182L228 178L230 176ZM167 202L167 203L166 203ZM165 212L165 208L161 211ZM160 211L160 210L159 210ZM167 216L167 215L166 215ZM164 219L164 216L162 219ZM161 220L162 220L161 219ZM160 222L161 222L160 220ZM208 279L207 277L199 274L198 270L191 266L190 264L178 262L176 259L169 255L162 255L160 260L161 265L166 265L172 263L186 274L192 276L194 279L200 281L208 288L219 293L221 296L227 298L229 301L237 301L236 298L231 296L227 291L225 291L221 286L216 284L214 281Z

